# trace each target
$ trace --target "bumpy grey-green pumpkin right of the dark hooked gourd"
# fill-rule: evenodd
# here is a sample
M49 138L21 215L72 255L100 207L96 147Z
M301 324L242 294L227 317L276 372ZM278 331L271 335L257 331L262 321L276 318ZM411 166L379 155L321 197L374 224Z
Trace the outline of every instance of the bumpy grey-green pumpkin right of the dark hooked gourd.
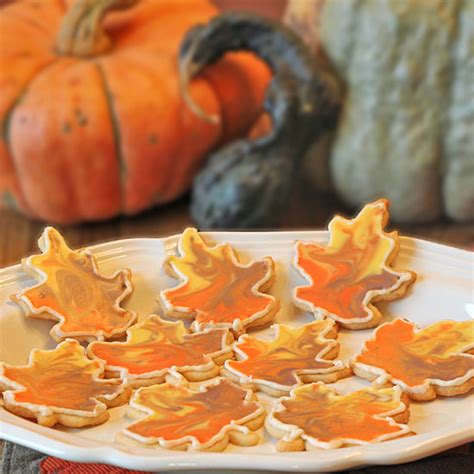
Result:
M474 219L474 3L290 0L285 21L346 86L322 159L339 195L385 196L399 222Z

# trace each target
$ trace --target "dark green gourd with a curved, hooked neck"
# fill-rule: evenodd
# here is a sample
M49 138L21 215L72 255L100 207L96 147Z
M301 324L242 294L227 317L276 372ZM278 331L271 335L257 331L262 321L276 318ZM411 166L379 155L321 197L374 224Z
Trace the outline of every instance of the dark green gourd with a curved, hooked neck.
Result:
M246 50L273 72L264 110L271 132L241 139L216 151L196 177L191 211L205 228L273 225L286 204L305 152L335 127L340 88L302 41L288 28L248 13L224 13L190 30L180 50L184 100L209 117L187 94L190 79L228 51Z

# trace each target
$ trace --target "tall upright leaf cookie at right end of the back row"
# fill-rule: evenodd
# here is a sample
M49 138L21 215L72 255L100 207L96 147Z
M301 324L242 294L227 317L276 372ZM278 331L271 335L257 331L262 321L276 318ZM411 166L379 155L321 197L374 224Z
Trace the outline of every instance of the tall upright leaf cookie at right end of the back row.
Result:
M399 241L384 231L388 217L388 201L380 199L355 219L334 217L326 246L297 242L293 263L310 284L295 289L296 304L348 329L376 326L381 314L374 303L402 297L416 278L391 267Z

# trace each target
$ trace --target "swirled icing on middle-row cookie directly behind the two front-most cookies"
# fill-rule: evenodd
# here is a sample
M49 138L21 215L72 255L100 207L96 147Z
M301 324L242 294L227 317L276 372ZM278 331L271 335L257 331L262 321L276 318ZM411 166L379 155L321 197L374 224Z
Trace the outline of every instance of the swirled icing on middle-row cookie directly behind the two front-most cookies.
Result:
M334 340L323 336L333 330L331 320L314 321L300 327L276 326L273 341L264 341L244 335L234 350L244 355L243 360L228 360L226 368L244 378L271 382L288 389L300 384L299 375L327 373L343 368L324 354L337 347Z

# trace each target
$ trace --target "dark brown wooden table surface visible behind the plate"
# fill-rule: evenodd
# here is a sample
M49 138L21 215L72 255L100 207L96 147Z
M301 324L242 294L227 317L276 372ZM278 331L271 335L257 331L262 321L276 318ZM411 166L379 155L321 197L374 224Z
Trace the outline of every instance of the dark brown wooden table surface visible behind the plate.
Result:
M305 186L296 186L288 208L281 210L279 229L324 229L336 212L351 215L354 211L346 209L333 195L315 194ZM72 247L82 247L126 237L162 237L192 224L188 200L182 199L135 217L58 228ZM44 226L43 222L31 221L15 212L0 211L0 267L35 253ZM403 235L474 250L474 224L445 221L396 227Z

